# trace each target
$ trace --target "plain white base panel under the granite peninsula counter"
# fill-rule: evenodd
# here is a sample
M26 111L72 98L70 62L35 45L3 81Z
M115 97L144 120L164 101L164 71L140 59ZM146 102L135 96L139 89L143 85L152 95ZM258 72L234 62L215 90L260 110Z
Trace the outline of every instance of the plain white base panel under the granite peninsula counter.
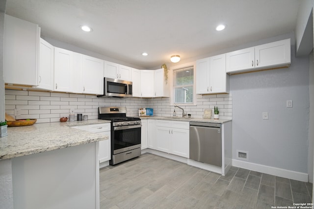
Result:
M12 158L14 209L99 209L98 146Z

